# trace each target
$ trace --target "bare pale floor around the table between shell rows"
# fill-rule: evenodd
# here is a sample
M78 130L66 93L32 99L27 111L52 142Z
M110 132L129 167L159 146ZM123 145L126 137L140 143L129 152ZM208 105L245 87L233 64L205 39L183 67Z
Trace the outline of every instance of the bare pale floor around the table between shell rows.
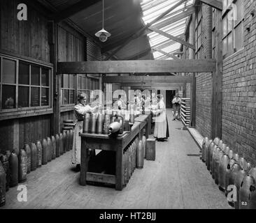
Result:
M199 148L180 121L171 121L170 137L157 142L156 160L136 169L122 191L93 185L81 186L72 170L71 151L27 176L27 201L17 201L17 187L6 193L2 208L224 208L225 195L215 185ZM21 185L21 184L20 184Z

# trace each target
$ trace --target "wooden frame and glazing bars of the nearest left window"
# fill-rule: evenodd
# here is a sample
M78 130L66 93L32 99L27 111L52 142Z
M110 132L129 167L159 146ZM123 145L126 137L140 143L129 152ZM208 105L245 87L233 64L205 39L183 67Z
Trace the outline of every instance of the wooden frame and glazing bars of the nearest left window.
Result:
M15 61L16 63L16 70L15 70L15 84L10 84L10 83L4 83L3 82L3 59L9 59L12 61ZM19 63L28 63L29 64L29 84L19 84L18 79L19 79ZM0 85L1 85L1 91L0 91L0 98L2 100L2 90L3 90L3 85L9 85L9 86L15 86L15 108L12 109L2 109L2 103L0 105L0 115L1 116L7 116L7 118L4 119L8 119L8 116L30 116L29 114L31 114L31 116L33 116L33 112L36 114L40 114L41 112L45 113L46 111L48 112L52 112L52 66L46 65L45 63L38 63L36 61L30 61L29 59L22 59L20 57L16 57L16 56L10 56L7 54L2 54L0 53L0 63L1 63L1 79L0 79ZM31 85L31 66L39 66L40 67L40 85L35 86L35 85ZM41 85L41 70L42 68L46 68L49 70L49 86L42 86ZM29 107L18 107L18 89L19 86L26 86L29 87ZM39 93L39 106L34 106L31 107L31 87L38 87L40 89L40 93ZM41 106L41 91L42 89L49 89L49 94L48 94L48 102L49 105L45 105L45 106ZM20 112L20 114L23 115L18 115ZM3 118L0 118L0 120Z

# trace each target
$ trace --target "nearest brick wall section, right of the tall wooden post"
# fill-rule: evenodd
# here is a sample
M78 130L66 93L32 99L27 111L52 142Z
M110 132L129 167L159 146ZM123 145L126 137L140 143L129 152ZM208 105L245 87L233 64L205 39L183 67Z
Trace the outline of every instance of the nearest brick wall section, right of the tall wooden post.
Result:
M256 2L245 0L244 48L223 61L222 139L255 164L256 155ZM246 27L250 25L250 31Z

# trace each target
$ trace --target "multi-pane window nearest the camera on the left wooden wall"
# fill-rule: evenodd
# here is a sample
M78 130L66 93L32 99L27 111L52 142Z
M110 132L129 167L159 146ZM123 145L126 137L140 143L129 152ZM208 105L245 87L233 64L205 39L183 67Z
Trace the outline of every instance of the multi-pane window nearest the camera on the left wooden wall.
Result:
M8 56L0 60L0 110L50 107L50 67Z

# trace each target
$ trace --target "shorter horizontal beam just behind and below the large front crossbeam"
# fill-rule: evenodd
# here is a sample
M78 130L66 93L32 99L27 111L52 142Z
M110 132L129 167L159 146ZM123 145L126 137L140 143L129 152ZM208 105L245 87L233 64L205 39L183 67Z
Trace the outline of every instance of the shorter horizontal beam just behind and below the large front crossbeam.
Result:
M166 83L190 83L192 82L192 77L184 76L119 76L119 77L102 77L102 82L104 83L134 83L141 85L145 84L166 84Z

